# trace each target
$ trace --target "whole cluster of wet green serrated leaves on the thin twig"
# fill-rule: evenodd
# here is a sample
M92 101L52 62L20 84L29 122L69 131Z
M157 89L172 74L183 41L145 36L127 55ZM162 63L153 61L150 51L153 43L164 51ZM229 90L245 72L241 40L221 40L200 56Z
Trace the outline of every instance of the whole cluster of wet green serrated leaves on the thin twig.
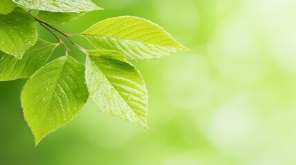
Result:
M106 19L81 34L66 34L50 25L101 9L90 0L14 2L30 10L15 8L0 15L0 50L5 53L0 61L0 80L30 78L23 87L21 105L36 145L75 118L88 93L102 111L148 130L148 91L130 62L157 59L188 48L159 25L138 17ZM39 12L34 16L32 9ZM59 44L37 39L36 23L66 48L66 56L46 64ZM86 67L70 57L68 46L56 33L86 54ZM95 50L85 50L72 41L72 36L86 37Z

